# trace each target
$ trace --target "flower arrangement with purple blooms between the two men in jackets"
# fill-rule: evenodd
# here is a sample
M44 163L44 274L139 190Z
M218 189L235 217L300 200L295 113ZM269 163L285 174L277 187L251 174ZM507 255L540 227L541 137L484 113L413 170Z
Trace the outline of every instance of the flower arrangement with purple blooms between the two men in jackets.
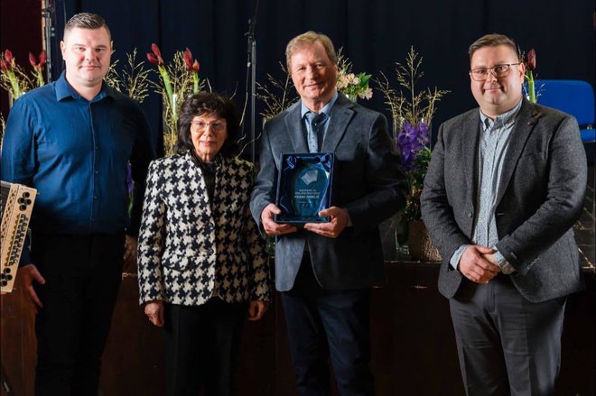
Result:
M449 93L437 87L416 91L416 83L424 76L422 61L423 58L411 47L405 65L396 63L397 83L406 94L391 87L383 73L383 79L377 81L391 112L396 146L402 154L407 179L403 219L407 222L421 219L420 195L432 155L429 147L431 122L437 102Z

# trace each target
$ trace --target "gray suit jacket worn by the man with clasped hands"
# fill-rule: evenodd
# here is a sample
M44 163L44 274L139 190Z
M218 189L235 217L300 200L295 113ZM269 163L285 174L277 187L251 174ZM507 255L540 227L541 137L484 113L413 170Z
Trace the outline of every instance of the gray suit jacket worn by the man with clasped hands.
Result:
M443 257L439 290L447 298L462 277L449 260L461 244L471 244L479 130L479 109L442 124L424 180L423 219ZM496 216L498 251L517 269L509 276L529 301L582 290L572 226L582 213L586 168L573 116L524 99L498 184Z

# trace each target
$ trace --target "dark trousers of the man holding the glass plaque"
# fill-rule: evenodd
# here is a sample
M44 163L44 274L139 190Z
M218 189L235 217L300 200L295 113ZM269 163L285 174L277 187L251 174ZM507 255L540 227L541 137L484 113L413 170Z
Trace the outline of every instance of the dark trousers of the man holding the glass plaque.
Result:
M370 289L324 290L306 258L293 289L281 297L298 395L331 394L330 355L342 396L374 395Z

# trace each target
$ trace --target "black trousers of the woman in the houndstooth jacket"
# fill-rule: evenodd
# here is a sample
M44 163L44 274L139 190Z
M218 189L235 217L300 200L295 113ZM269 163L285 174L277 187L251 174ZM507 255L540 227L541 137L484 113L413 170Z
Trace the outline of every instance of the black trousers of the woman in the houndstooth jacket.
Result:
M165 394L228 396L237 364L246 302L210 299L197 307L164 304Z

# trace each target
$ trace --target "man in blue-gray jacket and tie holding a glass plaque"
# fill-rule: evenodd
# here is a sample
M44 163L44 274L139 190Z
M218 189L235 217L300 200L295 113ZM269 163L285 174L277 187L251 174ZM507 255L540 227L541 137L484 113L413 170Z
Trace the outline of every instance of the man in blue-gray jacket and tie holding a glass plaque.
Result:
M329 37L303 33L285 53L301 100L265 124L251 210L260 228L275 235L275 287L296 387L299 395L328 394L331 357L342 395L372 395L370 288L386 281L378 225L405 205L401 161L385 116L337 91L337 55ZM288 178L281 172L293 163L298 167L288 178L294 181L284 187L279 180ZM311 216L307 198L327 192L303 184L316 186L315 176L328 173L318 185L333 184L332 193L318 218L285 222L275 202L285 196L296 217ZM312 205L321 202L313 199Z

